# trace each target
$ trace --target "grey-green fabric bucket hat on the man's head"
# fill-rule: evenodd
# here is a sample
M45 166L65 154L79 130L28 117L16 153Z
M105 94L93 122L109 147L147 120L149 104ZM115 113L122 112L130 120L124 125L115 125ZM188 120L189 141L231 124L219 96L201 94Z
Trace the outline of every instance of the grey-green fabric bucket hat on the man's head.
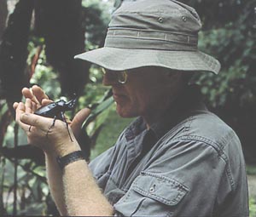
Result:
M201 20L195 9L172 0L123 3L112 16L104 47L74 58L113 71L161 66L180 71L210 71L220 64L197 48Z

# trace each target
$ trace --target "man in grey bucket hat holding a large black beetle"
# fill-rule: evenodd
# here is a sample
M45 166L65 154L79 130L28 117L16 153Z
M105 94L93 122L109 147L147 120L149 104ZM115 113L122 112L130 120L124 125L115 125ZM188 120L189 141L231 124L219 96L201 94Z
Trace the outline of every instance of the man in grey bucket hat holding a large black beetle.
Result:
M124 3L104 48L76 58L105 69L121 117L138 117L115 146L84 161L75 137L90 111L70 123L32 114L49 103L42 89L23 89L16 121L46 156L49 187L63 215L248 216L247 177L235 132L207 111L190 87L193 71L218 74L197 49L201 22L171 0Z

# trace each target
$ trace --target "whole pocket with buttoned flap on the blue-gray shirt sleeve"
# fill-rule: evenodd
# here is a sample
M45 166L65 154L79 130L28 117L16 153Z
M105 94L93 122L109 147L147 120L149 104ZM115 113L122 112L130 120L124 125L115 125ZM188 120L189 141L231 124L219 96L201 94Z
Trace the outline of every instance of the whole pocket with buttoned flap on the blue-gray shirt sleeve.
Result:
M125 216L172 216L188 191L176 180L142 172L113 208Z

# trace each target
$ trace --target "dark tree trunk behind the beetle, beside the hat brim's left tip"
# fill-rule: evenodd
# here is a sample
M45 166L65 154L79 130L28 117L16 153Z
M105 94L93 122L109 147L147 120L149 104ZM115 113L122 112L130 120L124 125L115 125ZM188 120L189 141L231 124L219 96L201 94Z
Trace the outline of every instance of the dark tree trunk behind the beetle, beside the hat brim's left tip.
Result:
M36 33L45 40L47 60L60 72L61 94L69 98L83 94L90 64L73 59L84 52L81 0L37 0L35 18Z

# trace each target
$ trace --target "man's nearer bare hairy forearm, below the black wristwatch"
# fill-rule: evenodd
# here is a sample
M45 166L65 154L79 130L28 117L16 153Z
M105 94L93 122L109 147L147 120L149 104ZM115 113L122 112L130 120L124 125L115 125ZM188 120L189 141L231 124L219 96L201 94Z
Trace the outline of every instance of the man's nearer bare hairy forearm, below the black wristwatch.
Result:
M84 160L67 165L63 184L68 215L110 216L113 208L96 185Z

